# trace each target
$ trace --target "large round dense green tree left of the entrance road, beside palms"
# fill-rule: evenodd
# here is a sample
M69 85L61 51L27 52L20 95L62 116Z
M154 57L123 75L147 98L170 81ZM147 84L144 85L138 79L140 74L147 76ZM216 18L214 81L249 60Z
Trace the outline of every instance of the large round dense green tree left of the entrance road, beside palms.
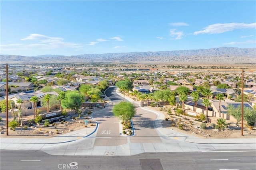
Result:
M64 109L74 109L78 112L78 109L82 105L82 98L83 96L76 91L69 92L66 94L66 98L62 100L61 105Z

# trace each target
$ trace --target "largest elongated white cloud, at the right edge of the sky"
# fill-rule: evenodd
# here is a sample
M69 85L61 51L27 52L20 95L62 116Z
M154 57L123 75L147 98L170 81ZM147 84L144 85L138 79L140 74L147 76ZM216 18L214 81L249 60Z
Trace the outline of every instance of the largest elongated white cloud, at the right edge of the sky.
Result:
M243 28L256 28L256 23L216 23L209 25L204 28L202 31L194 32L194 35L198 34L213 34L213 33L224 33L226 31L233 31L234 29L243 29Z

